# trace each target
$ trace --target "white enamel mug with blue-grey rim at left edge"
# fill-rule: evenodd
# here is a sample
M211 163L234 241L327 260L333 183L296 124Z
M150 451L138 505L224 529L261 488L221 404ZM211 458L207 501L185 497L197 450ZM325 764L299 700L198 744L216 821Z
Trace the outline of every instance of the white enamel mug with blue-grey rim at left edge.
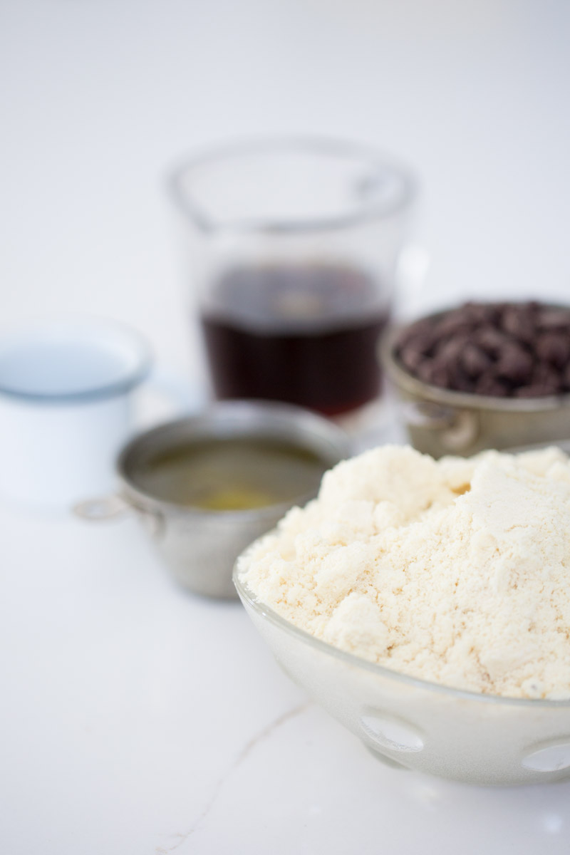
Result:
M0 337L0 498L66 509L114 483L132 391L152 358L113 321L34 323Z

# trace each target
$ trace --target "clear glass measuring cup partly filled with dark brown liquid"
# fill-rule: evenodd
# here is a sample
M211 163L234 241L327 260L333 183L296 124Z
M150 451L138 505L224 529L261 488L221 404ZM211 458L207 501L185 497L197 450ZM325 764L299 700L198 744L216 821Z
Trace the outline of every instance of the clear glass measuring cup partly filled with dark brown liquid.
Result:
M214 396L326 416L377 398L408 172L363 145L266 139L194 157L171 188Z

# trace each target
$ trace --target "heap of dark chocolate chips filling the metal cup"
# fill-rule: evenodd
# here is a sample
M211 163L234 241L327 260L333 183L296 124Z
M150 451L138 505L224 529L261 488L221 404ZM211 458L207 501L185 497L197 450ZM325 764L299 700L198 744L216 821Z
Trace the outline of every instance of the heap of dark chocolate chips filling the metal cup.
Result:
M432 386L498 398L570 392L570 309L466 303L405 327L396 356Z

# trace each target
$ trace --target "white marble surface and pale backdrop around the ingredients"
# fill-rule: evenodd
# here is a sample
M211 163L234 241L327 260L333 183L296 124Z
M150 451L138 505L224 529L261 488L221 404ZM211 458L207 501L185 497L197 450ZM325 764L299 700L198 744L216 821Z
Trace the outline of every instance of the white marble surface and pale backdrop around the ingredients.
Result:
M567 297L570 7L527 0L3 0L2 321L129 321L200 380L163 189L261 131L412 163L419 307ZM567 852L570 784L385 768L308 703L238 604L182 593L134 521L0 510L0 848Z

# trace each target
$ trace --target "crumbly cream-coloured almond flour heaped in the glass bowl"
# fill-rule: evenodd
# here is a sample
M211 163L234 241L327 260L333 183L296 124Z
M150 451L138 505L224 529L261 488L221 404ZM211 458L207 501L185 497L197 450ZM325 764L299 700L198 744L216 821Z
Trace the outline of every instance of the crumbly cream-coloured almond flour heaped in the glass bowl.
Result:
M570 698L570 463L555 448L339 463L240 558L286 620L390 669Z

